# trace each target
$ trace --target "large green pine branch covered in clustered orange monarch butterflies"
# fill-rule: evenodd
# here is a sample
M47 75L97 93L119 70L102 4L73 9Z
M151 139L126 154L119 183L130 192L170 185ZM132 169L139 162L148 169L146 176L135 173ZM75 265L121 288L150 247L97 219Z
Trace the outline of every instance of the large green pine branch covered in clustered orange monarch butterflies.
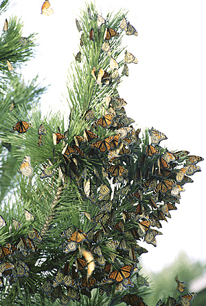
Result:
M157 245L161 221L203 160L163 148L165 134L141 133L126 116L117 89L137 64L121 46L124 34L137 36L126 12L102 18L91 3L76 25L67 122L19 105L25 133L11 133L16 110L4 124L2 139L22 162L1 211L2 306L146 305L138 258L147 250L138 242Z

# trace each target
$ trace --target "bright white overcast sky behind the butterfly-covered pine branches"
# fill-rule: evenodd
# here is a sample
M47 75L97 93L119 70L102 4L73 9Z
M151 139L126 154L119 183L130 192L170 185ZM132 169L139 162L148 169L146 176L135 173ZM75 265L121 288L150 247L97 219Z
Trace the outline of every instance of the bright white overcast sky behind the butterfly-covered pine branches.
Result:
M23 36L36 32L40 46L36 58L22 70L25 79L38 73L44 85L52 84L41 99L43 114L49 107L68 112L65 81L73 53L78 53L79 34L75 18L84 1L51 0L52 16L41 14L43 0L18 0L5 16L22 16ZM105 18L108 11L129 10L128 21L138 36L126 36L124 45L138 59L129 64L119 95L128 105L126 112L143 131L155 127L168 136L162 145L185 149L206 158L205 149L205 71L206 18L205 0L95 1ZM112 5L111 5L112 3ZM0 19L3 27L5 19ZM60 101L62 101L60 103ZM206 261L205 251L205 161L201 173L192 176L181 193L178 210L162 222L163 235L157 236L157 248L142 243L148 253L142 263L157 271L169 264L183 250L194 259Z

